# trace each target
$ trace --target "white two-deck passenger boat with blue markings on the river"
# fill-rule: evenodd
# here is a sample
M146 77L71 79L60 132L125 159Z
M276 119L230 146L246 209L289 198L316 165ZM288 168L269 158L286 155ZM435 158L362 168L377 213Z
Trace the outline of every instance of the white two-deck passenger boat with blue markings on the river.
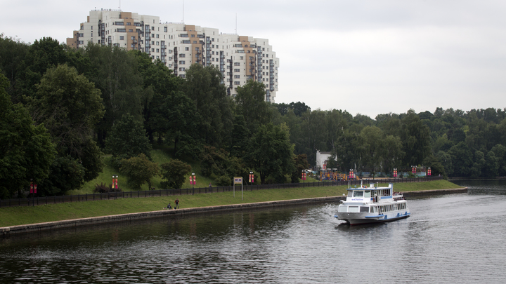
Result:
M341 202L334 217L350 225L391 222L410 216L406 200L394 192L393 184L349 188L346 201Z

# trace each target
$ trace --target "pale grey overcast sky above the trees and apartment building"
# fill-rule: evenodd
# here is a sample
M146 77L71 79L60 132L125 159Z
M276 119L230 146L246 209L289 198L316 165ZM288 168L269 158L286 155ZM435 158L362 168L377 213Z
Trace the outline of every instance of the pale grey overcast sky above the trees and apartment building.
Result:
M275 102L356 115L506 107L506 1L0 0L0 33L64 43L95 8L268 39ZM184 7L184 8L183 8Z

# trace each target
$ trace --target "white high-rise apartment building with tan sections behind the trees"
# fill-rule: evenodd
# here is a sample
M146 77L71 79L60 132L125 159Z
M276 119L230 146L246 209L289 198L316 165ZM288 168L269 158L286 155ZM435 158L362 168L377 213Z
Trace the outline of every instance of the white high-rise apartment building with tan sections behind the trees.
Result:
M217 67L223 74L228 95L235 96L237 87L252 79L264 83L266 101L275 102L279 58L268 39L223 34L209 27L161 22L157 16L101 9L91 11L73 37L67 38L67 46L74 48L89 42L142 50L182 78L194 63Z

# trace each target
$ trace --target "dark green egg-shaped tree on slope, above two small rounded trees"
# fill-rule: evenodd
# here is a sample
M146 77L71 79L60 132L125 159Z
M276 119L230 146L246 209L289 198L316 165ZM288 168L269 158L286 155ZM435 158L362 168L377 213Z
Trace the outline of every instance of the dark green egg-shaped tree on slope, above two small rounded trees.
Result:
M151 144L145 135L143 123L130 114L112 126L110 135L105 140L105 150L112 154L112 165L120 168L124 159L144 154L150 158Z

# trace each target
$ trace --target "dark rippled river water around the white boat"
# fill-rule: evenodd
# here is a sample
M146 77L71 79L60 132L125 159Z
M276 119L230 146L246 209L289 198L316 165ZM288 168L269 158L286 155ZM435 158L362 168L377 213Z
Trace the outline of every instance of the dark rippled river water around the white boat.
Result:
M506 183L347 226L337 204L0 237L0 283L505 283Z

